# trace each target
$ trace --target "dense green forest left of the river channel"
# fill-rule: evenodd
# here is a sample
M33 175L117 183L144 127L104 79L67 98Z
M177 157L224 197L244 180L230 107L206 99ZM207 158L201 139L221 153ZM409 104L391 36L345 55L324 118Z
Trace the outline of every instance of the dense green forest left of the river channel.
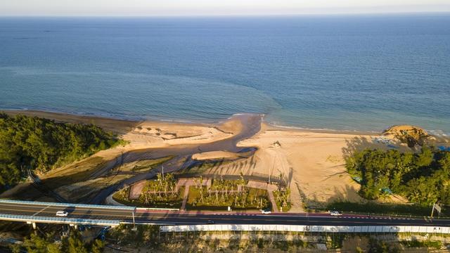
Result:
M27 170L48 171L120 143L92 124L0 113L0 191L18 183Z

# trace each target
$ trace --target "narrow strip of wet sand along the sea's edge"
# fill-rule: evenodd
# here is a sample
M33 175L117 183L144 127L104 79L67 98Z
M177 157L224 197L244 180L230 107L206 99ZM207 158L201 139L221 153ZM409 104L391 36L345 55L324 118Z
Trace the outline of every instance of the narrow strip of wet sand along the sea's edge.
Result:
M159 124L173 124L173 125L184 125L184 126L217 126L221 123L228 121L229 119L236 117L238 115L252 115L250 113L236 113L230 117L223 119L215 119L211 121L202 120L186 120L181 119L125 119L113 116L103 116L103 115L83 115L74 114L69 112L56 112L56 111L46 111L46 110L4 110L0 109L0 112L4 112L7 115L25 115L31 117L44 117L47 119L53 119L56 122L68 122L68 123L83 123L83 124L96 124L101 126L103 129L108 131L113 131L117 134L125 134L131 131L132 128L142 124L143 122L148 123L159 123ZM255 114L253 114L255 115ZM281 126L277 124L271 124L271 122L264 121L264 115L262 115L262 125L265 126L267 131L299 131L299 132L313 132L321 134L352 134L352 135L365 135L365 136L376 136L383 133L385 129L380 131L364 131L364 130L346 130L346 129L316 129L316 128L304 128L301 126ZM111 126L115 124L115 126Z

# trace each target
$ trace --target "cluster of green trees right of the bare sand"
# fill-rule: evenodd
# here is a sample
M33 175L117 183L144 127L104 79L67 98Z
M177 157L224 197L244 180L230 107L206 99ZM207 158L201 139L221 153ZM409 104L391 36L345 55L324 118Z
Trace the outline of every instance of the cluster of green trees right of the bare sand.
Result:
M418 205L450 205L450 152L423 146L420 153L362 150L347 158L347 170L369 200L398 193Z

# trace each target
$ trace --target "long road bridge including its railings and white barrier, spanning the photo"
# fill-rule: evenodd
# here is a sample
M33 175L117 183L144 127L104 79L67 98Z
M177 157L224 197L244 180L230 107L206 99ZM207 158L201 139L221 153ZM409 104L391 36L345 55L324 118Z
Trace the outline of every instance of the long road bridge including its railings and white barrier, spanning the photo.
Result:
M68 216L56 216L56 212L58 211L68 212ZM121 223L204 226L214 223L214 225L220 225L220 228L224 226L226 229L229 228L226 225L239 229L241 227L245 228L245 226L252 226L251 229L259 229L259 226L262 226L262 229L272 229L269 225L275 225L283 229L285 229L285 226L296 226L295 229L304 230L307 230L307 228L328 229L328 226L332 226L332 230L335 228L348 228L354 229L355 233L364 228L370 228L373 231L383 231L384 233L389 228L388 230L393 233L397 228L409 227L409 231L420 229L420 231L430 230L435 231L435 233L450 233L448 231L450 228L449 219L431 219L430 217L413 218L360 214L330 216L330 214L291 214L279 212L261 214L261 212L226 212L226 210L210 212L176 211L169 209L145 209L126 206L82 205L20 200L0 200L0 220L27 222L33 224L33 226L36 226L36 223L60 223L72 226L118 226ZM193 227L189 226L188 228L192 229ZM207 229L210 228L212 226L207 226ZM348 229L347 232L349 231Z

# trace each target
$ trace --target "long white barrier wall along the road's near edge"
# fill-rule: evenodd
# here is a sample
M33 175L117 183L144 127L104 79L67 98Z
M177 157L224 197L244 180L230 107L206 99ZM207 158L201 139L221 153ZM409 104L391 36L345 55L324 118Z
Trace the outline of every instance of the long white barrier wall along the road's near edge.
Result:
M322 233L450 233L450 227L433 226L304 226L304 225L186 225L161 226L161 232L285 231Z

